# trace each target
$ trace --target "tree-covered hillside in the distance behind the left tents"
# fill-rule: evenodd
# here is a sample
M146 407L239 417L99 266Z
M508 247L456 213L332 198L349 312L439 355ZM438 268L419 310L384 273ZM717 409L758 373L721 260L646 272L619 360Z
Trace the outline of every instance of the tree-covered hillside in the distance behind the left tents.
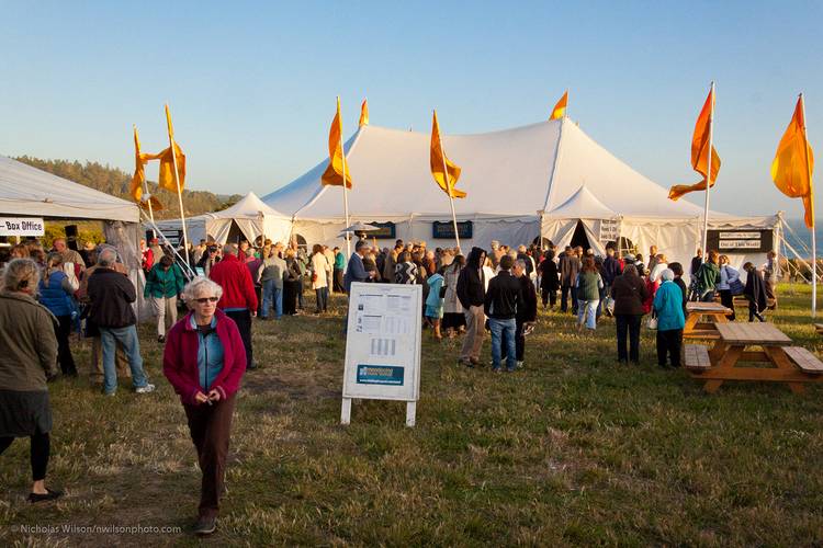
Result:
M57 176L68 179L80 183L95 191L117 196L119 198L131 201L128 186L132 182L132 174L120 169L103 165L99 162L80 163L70 160L43 160L30 156L21 156L18 161L27 163L34 168L47 171ZM173 219L180 217L180 207L178 206L177 195L165 189L158 189L157 183L148 181L148 192L157 196L162 203L165 209L155 212L155 218ZM183 208L185 215L200 215L208 212L218 212L225 209L240 199L239 194L230 196L221 196L207 191L183 191Z

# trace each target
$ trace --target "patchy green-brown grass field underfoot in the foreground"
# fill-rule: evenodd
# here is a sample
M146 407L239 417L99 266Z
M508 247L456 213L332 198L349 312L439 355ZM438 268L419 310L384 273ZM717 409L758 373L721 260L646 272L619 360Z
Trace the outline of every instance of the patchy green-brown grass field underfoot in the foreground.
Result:
M771 318L819 352L809 292L782 287ZM255 324L261 368L246 375L228 494L206 544L823 543L816 385L796 396L777 384L725 384L709 396L685 372L656 368L650 332L642 365L619 366L613 321L585 336L571 316L541 311L523 370L460 367L460 343L438 344L425 332L417 426L404 426L401 403L362 401L343 427L343 305L336 297L329 317ZM84 378L50 387L48 480L67 496L25 502L27 441L0 457L0 544L198 543L190 533L200 492L194 448L160 370L161 349L150 326L142 332L158 392L135 396L122 386L104 399ZM86 364L86 344L75 352ZM181 530L59 530L137 525ZM34 526L41 532L25 533Z

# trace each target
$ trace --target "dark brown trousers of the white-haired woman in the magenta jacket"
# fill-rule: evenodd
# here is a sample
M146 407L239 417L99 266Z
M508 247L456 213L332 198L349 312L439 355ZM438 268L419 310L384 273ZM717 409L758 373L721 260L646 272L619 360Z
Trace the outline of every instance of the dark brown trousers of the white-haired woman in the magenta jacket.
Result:
M183 406L189 432L198 449L198 464L203 479L200 487L200 515L215 517L219 510L226 457L232 434L235 397L229 396L213 406Z

